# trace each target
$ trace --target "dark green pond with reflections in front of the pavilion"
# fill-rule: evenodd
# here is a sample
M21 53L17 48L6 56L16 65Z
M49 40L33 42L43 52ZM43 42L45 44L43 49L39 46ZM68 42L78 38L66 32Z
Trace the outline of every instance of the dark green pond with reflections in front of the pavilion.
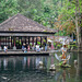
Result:
M56 71L49 71L50 65L59 63L54 55L0 57L0 82L82 82L82 52L69 54L71 68L56 67Z

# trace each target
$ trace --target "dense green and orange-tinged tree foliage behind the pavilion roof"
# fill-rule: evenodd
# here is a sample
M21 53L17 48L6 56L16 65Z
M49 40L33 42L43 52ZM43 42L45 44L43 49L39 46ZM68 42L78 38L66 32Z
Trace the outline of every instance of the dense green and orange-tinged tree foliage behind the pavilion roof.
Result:
M82 0L0 0L0 23L17 13L82 44Z

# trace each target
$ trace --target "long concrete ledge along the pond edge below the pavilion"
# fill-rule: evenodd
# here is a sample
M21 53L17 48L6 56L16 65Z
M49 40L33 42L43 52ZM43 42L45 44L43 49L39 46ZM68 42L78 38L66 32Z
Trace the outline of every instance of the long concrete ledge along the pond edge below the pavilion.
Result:
M49 56L49 51L0 51L0 56Z

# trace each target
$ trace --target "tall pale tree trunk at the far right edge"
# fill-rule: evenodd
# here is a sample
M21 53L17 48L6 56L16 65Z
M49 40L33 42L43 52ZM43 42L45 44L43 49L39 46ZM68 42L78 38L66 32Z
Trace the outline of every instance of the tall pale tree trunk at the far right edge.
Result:
M80 27L79 26L79 20L80 20L80 17L81 17L81 15L80 16L78 16L78 14L80 14L80 12L79 12L79 0L75 0L75 28L77 28L77 40L78 40L78 50L81 50L82 49L82 27ZM81 17L82 19L82 17Z

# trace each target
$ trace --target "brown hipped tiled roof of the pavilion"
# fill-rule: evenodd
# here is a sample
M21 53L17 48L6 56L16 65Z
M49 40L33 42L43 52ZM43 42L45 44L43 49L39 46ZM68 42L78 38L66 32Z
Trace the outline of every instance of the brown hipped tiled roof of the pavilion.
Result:
M0 31L2 32L49 32L55 33L54 30L45 27L37 22L27 19L22 14L16 14L9 17L7 21L0 24Z

